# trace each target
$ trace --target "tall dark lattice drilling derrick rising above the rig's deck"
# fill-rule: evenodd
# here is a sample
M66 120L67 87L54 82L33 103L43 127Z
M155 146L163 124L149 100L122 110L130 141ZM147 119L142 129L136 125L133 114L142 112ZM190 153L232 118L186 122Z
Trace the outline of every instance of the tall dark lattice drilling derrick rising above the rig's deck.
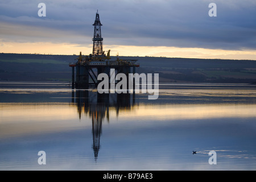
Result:
M102 42L103 42L103 38L101 37L101 21L100 21L100 15L98 14L98 10L96 13L96 18L95 18L95 22L93 24L94 26L94 35L93 35L93 52L92 55L93 56L99 56L99 55L103 55L103 51L102 51Z

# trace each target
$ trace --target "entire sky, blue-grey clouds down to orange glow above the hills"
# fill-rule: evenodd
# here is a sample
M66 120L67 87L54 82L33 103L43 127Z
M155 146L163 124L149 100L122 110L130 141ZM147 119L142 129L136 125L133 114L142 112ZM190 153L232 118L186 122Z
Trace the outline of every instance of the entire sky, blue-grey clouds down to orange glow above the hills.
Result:
M255 0L2 0L0 52L89 55L98 10L114 56L256 60L255 9Z

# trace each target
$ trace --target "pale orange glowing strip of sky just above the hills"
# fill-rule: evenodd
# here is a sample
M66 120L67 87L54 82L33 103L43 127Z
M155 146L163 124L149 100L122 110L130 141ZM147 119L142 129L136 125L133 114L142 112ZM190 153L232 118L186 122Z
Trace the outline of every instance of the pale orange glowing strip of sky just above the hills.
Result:
M2 42L0 44L3 53L39 53L46 55L89 55L92 53L92 44L81 46L69 43L16 43ZM155 56L155 57L183 57L199 59L238 59L256 60L256 50L222 50L205 48L179 48L164 46L118 46L104 45L105 52L111 50L110 56Z

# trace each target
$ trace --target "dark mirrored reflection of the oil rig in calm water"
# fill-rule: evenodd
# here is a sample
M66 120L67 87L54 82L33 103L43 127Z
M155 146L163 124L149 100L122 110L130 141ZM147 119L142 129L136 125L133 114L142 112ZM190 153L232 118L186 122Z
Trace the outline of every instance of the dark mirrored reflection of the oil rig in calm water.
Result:
M75 96L76 93L76 97ZM77 89L72 91L72 102L76 102L79 118L84 113L92 118L93 152L97 160L100 150L100 137L102 134L102 121L109 122L109 111L115 110L118 116L121 110L131 110L135 105L135 94L130 93L98 93L92 90ZM131 96L133 96L131 98ZM75 101L76 99L76 101Z

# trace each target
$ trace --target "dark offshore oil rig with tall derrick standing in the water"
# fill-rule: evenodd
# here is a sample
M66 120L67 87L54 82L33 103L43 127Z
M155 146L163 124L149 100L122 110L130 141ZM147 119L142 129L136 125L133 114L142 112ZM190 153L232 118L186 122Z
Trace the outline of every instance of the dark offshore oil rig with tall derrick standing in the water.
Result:
M135 68L139 67L137 60L122 60L119 59L118 56L115 60L111 60L110 50L108 51L107 55L105 55L105 51L102 49L102 24L100 22L100 15L98 14L98 10L93 26L94 34L92 38L92 54L89 56L82 56L82 53L80 52L80 55L77 58L77 62L69 64L69 67L72 68L72 89L85 89L90 85L98 85L99 81L97 80L97 76L100 73L106 73L110 77L111 68L114 68L117 73L125 73L128 78L129 73L135 73Z

